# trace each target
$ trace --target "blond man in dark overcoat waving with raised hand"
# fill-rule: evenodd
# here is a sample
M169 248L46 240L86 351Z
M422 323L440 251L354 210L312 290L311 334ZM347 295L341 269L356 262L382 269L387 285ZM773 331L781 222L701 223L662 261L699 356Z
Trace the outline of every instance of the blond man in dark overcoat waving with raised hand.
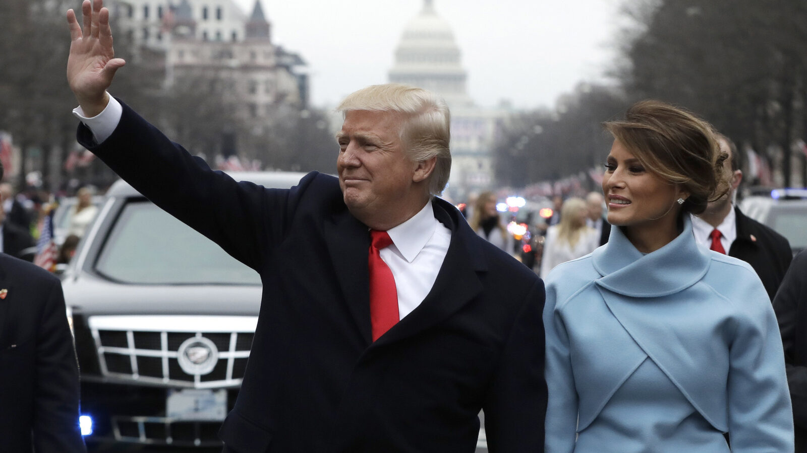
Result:
M359 90L339 107L338 178L236 182L109 97L123 61L101 6L84 2L84 31L68 13L80 143L263 282L224 451L470 453L480 409L491 451L542 451L543 284L433 196L445 103Z

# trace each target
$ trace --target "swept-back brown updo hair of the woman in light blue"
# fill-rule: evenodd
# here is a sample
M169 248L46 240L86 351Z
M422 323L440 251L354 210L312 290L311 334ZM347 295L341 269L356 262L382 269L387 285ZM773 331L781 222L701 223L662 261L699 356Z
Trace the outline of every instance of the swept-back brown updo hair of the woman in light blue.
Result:
M727 190L721 152L713 128L687 110L660 101L640 101L625 119L603 127L650 172L681 185L689 197L681 212L700 214Z

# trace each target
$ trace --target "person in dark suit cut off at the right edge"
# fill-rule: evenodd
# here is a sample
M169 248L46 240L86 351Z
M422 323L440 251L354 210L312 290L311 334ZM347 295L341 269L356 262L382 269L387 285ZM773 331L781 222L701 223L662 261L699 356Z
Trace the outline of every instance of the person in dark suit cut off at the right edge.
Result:
M807 250L795 256L773 298L788 372L796 453L807 453Z

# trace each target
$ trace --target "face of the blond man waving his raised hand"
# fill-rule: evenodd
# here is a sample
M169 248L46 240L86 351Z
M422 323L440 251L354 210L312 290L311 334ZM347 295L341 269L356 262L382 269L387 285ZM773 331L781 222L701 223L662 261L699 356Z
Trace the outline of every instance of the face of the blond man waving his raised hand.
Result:
M389 213L408 210L413 200L425 197L413 185L428 174L421 174L421 165L407 156L400 138L403 121L402 115L392 112L345 113L337 134L339 185L345 205L362 222L386 219Z

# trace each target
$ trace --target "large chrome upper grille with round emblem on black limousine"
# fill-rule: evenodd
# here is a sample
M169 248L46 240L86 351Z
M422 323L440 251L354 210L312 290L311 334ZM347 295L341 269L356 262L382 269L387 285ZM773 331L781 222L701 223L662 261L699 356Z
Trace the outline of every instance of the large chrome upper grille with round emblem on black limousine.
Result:
M196 389L239 385L257 317L91 316L103 376Z

